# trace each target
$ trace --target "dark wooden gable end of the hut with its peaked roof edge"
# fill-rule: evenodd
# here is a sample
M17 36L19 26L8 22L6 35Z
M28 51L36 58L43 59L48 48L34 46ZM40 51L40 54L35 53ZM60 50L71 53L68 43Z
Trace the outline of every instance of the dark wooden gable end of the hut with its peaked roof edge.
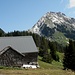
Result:
M11 47L6 47L0 55L0 66L21 66L24 56Z

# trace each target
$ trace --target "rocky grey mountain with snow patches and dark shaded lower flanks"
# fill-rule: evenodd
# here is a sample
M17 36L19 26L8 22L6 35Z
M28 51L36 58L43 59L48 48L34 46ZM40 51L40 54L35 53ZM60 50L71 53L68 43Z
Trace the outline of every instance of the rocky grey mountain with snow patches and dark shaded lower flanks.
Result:
M61 12L47 12L29 31L49 40L55 40L53 35L56 32L75 40L75 19Z

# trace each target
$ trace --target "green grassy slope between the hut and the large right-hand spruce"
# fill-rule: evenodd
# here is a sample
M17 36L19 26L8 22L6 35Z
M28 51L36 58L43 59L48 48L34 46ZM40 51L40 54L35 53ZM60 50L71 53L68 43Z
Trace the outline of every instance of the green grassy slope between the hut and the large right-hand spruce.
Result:
M41 68L44 68L44 69L63 69L63 64L62 64L63 53L57 52L57 54L59 55L60 62L53 61L52 64L45 63L45 62L41 61L41 57L38 57L38 59L39 59L38 62L39 62L39 65L41 66Z

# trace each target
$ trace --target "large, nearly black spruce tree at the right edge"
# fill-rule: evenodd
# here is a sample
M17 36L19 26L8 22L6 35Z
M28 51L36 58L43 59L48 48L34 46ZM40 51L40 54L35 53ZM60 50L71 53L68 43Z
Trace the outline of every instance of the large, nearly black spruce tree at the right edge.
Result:
M63 60L64 69L75 70L75 43L69 40L69 46L66 47Z

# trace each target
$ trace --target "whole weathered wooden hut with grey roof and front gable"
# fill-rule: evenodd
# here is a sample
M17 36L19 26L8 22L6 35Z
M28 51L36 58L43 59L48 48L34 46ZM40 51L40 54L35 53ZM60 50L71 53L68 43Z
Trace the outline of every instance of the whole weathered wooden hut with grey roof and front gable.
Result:
M37 57L32 36L0 37L0 66L37 65Z

